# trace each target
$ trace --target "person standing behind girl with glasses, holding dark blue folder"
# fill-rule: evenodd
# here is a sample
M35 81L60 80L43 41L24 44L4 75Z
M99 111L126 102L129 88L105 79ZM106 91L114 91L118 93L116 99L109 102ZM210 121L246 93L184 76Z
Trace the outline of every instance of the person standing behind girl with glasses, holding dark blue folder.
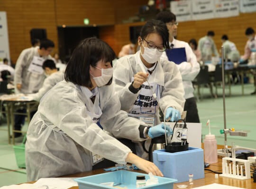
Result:
M161 20L167 26L169 31L169 45L172 46L173 49L185 48L187 61L183 61L176 65L182 75L183 87L185 91L184 98L186 101L184 105L184 111L187 111L187 122L199 123L200 120L196 100L193 94L194 88L192 85L192 80L194 80L194 78L198 75L200 71L200 64L197 62L196 56L188 43L174 39L174 37L177 35L178 29L176 16L170 11L162 11L156 15L156 19ZM161 58L168 60L165 52Z

